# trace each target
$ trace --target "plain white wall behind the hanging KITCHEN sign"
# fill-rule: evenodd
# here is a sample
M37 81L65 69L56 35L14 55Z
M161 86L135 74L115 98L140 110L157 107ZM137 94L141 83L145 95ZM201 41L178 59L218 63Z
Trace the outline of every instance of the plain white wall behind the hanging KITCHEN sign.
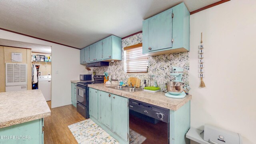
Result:
M203 32L206 88L199 88ZM231 0L190 16L191 127L212 124L256 136L256 1Z

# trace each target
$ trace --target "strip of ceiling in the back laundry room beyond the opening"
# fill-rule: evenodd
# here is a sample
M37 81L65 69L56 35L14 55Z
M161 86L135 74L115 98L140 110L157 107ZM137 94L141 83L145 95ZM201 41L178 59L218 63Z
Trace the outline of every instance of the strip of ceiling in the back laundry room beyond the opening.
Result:
M51 54L52 47L41 44L32 44L28 42L19 42L15 40L6 40L0 38L0 46L10 46L18 48L30 48L32 52Z

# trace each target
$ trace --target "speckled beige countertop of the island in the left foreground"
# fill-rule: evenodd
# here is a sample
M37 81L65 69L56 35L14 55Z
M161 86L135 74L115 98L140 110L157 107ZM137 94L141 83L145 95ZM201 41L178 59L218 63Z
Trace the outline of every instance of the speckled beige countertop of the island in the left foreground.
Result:
M50 115L50 108L41 90L0 92L0 128Z

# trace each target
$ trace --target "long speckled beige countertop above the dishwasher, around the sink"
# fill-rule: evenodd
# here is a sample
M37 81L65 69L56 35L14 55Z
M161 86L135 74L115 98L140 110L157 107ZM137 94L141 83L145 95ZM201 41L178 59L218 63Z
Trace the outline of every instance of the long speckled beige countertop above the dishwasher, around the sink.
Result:
M146 102L148 104L153 104L163 108L168 108L174 111L178 110L180 107L182 107L184 104L192 99L192 95L186 95L185 98L169 98L167 96L164 96L165 92L125 92L122 90L108 88L108 86L116 86L116 84L89 84L88 86L90 88L102 90L126 98L132 98L134 100Z

